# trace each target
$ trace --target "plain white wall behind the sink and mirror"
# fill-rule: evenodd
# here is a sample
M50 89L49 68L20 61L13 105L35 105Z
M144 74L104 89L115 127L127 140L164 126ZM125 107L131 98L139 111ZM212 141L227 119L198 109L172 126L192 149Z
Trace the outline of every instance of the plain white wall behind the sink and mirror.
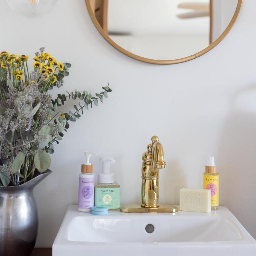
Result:
M215 154L220 202L256 238L256 1L243 1L237 23L212 51L170 66L118 52L94 27L84 0L59 2L53 13L31 20L1 1L0 48L33 55L45 46L57 59L70 61L62 93L98 92L108 82L113 92L71 124L52 156L53 173L34 190L37 246L52 245L68 205L77 201L84 150L112 155L121 202L139 203L141 154L153 134L167 162L160 171L160 201L178 204L180 188L201 188L206 156ZM97 171L97 161L94 167Z

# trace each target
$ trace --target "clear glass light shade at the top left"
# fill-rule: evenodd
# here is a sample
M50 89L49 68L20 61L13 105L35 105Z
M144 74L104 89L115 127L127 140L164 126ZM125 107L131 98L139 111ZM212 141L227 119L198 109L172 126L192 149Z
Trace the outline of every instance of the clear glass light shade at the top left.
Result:
M6 0L12 10L30 18L43 16L51 12L58 0Z

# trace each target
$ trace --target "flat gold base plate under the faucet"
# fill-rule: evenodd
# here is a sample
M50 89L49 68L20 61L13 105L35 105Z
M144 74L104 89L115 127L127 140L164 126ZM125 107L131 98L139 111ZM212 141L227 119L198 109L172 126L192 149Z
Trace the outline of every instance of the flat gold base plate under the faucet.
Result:
M120 212L129 213L174 213L177 211L178 208L171 204L159 204L158 208L144 208L140 204L127 204L120 207Z

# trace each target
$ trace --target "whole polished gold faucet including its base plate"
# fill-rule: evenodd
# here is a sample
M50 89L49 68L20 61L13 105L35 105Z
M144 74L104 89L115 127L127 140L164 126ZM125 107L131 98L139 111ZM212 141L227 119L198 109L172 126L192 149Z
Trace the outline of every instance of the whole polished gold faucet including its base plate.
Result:
M130 204L120 207L121 212L157 213L176 212L178 209L171 204L158 204L159 198L159 170L165 168L163 146L157 136L151 138L152 143L147 145L147 151L142 154L142 184L141 205Z

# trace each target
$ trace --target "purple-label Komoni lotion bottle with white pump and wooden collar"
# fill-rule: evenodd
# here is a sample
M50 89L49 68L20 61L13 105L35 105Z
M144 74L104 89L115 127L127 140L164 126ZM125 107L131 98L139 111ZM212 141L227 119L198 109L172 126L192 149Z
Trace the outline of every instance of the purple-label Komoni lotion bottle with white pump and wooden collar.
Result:
M79 174L78 188L78 210L80 212L90 212L94 206L94 173L93 165L90 163L90 157L96 156L95 152L84 152L85 163L81 166Z

